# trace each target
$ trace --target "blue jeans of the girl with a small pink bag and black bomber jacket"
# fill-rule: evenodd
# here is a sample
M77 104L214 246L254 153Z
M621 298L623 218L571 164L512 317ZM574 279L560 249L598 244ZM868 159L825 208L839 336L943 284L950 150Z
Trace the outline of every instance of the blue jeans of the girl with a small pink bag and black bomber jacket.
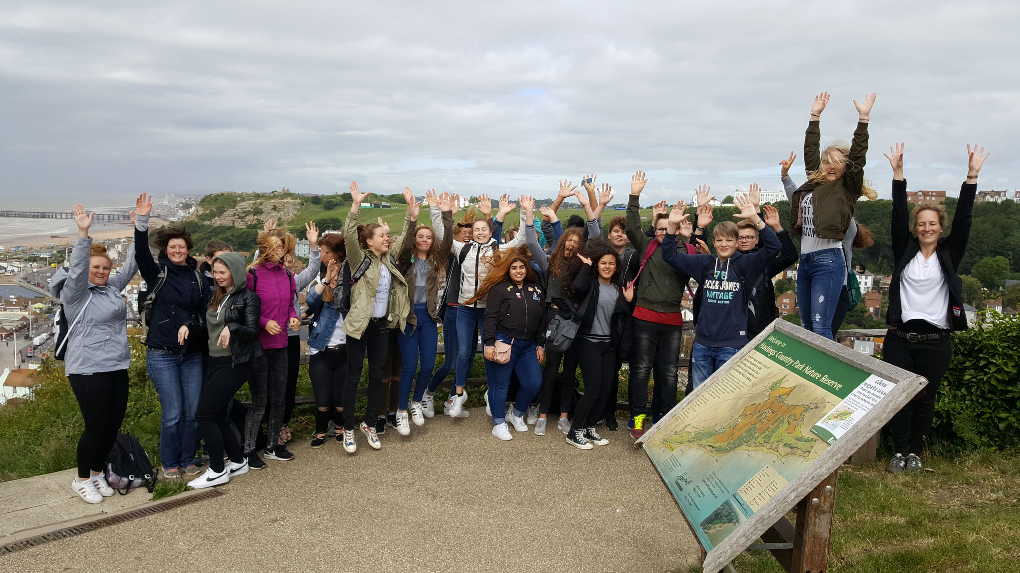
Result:
M497 340L509 343L510 337L497 334ZM510 360L506 364L486 361L488 366L486 379L489 383L489 407L493 412L493 425L506 421L507 390L510 388L510 376L517 374L520 389L517 390L517 401L513 411L517 416L523 416L531 400L542 387L542 366L539 365L539 355L536 352L534 341L514 341L510 351Z

